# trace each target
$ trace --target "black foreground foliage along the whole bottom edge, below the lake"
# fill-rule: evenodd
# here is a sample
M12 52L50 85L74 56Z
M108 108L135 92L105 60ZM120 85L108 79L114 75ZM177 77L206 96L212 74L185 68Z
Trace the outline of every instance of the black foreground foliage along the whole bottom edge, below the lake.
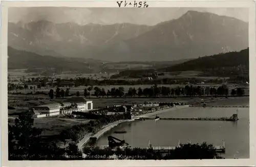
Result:
M181 144L167 155L161 155L153 149L127 148L125 150L97 147L85 147L80 151L75 142L66 148L57 146L56 141L42 142L42 129L34 127L31 114L20 114L15 124L8 123L8 158L9 160L86 160L108 159L113 154L119 159L213 159L219 156L212 145ZM84 155L99 156L84 156ZM124 155L124 156L120 156ZM140 155L138 157L138 155ZM104 158L104 156L106 158Z

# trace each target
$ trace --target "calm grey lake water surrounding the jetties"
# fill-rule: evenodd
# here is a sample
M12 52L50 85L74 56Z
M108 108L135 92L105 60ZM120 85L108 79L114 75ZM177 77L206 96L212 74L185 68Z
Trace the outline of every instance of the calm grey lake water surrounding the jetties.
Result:
M249 105L248 101L239 99L228 100L229 105ZM238 102L238 103L237 103ZM223 101L222 101L223 103ZM158 114L160 117L205 117L231 116L237 113L237 108L197 108L187 107L175 111ZM206 141L214 146L221 146L225 140L225 158L249 158L249 108L238 108L239 121L168 121L154 120L126 123L113 128L103 135L97 146L108 145L108 136L125 139L132 147L147 147L148 140L152 146L178 146L178 141L201 144ZM114 131L125 129L125 134L115 134Z

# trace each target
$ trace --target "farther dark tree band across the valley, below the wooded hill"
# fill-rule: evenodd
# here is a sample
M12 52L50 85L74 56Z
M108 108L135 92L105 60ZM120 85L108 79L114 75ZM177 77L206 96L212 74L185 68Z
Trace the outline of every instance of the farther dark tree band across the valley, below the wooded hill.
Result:
M161 74L159 74L161 75ZM154 75L155 76L155 75ZM78 86L106 86L106 85L160 85L160 84L198 84L201 83L202 80L197 78L180 78L180 79L172 79L172 78L156 78L154 76L153 80L148 80L147 78L141 78L138 80L112 80L112 79L104 79L104 80L97 80L97 79L90 79L90 78L75 78L75 79L52 79L49 77L45 78L31 78L28 80L20 79L20 82L23 84L14 84L8 83L8 91L11 90L31 90L36 91L36 89L41 89L45 87L78 87ZM233 76L230 79L210 79L207 81L203 81L204 83L209 84L222 84L224 82L240 84L240 83L248 83L249 79L245 76ZM32 85L32 86L29 86Z

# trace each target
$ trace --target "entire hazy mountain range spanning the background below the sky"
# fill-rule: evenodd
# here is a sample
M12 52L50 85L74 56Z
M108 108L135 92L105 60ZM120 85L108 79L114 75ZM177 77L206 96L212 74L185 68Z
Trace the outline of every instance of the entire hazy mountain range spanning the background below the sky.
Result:
M8 45L14 49L113 62L194 59L240 51L248 43L248 22L197 11L155 26L8 23Z

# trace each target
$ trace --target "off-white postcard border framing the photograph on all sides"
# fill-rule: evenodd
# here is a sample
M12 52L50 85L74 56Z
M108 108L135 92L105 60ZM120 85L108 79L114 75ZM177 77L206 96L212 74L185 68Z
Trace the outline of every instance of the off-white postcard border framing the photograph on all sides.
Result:
M254 1L147 1L152 7L249 9L250 158L214 160L84 160L8 161L7 22L8 7L118 7L117 1L2 1L1 9L1 156L2 166L254 166L255 165L255 2Z

